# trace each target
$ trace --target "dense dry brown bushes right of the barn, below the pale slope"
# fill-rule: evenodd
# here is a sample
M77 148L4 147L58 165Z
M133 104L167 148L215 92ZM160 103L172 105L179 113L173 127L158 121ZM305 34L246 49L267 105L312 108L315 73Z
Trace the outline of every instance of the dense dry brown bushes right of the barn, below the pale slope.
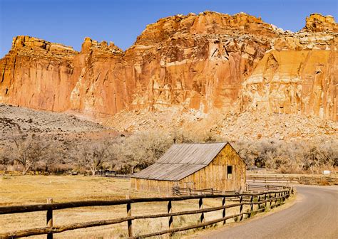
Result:
M234 142L234 147L247 164L279 173L320 173L338 166L338 141L317 137L311 141L293 140Z

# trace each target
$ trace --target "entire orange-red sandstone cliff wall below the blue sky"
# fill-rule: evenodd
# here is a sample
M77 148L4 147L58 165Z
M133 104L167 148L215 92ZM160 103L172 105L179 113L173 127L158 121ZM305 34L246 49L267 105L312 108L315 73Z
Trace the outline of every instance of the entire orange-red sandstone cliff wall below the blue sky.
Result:
M81 52L14 38L0 60L0 102L94 117L121 110L259 110L337 120L337 23L312 14L297 33L247 14L170 16L122 51Z

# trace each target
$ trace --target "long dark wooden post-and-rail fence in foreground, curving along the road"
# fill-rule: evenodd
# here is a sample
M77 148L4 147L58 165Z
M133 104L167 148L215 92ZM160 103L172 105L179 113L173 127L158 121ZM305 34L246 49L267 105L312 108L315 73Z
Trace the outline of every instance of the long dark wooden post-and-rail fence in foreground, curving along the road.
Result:
M66 230L75 230L79 228L90 228L100 225L112 225L116 223L127 222L128 236L129 238L148 238L155 235L163 234L172 234L175 232L180 232L183 230L190 230L194 228L203 228L207 225L212 225L215 223L225 223L227 219L230 218L239 218L239 220L244 219L244 216L250 217L252 213L265 211L267 206L273 208L279 206L285 201L286 198L292 193L291 188L278 191L268 191L262 193L227 193L227 194L205 194L205 195L191 195L191 196L173 196L165 198L131 198L123 200L114 200L114 201L78 201L78 202L69 202L69 203L53 203L49 201L46 204L37 204L37 205L26 205L26 206L2 206L0 207L1 214L14 214L14 213L29 213L36 211L46 211L46 227L43 228L33 228L27 230L16 230L14 232L2 233L0 238L20 238L31 235L43 235L46 234L47 238L53 238L54 233L62 233ZM204 198L221 198L221 206L204 208L203 199ZM238 203L226 203L230 201L230 198L237 198ZM180 211L173 213L172 202L173 201L185 201L190 199L198 199L198 210L193 211ZM144 215L144 216L132 216L132 206L134 203L149 203L149 202L167 202L168 213L153 214L153 215ZM68 225L53 225L53 211L62 210L66 208L78 208L78 207L88 207L88 206L116 206L116 205L126 205L126 217L116 218L103 221L90 221L86 223L73 223ZM243 211L243 206L250 205L250 211ZM257 209L254 210L254 205L257 205ZM232 215L226 215L226 208L239 207L238 212ZM222 216L218 219L211 221L206 221L205 213L212 211L222 211ZM189 225L180 228L173 227L173 217L191 215L191 214L200 214L200 221L195 225ZM168 229L161 230L158 232L153 232L145 235L133 235L133 221L138 219L145 218L168 218Z

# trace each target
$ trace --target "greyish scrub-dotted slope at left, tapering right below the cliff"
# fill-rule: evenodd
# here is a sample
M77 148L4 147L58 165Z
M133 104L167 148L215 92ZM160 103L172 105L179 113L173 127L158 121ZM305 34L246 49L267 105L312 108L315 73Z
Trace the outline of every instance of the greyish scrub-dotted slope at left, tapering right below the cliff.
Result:
M36 134L53 142L104 139L118 135L116 131L81 116L4 104L0 104L0 129L0 152L17 135Z

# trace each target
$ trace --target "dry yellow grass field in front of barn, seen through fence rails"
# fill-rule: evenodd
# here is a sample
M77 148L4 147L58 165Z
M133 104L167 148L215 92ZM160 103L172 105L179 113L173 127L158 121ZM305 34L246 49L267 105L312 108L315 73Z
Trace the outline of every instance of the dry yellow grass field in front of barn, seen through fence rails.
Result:
M136 197L166 196L159 193L130 190L128 179L112 179L91 176L2 176L0 178L0 206L53 202L113 200ZM221 199L205 199L205 208L221 206ZM198 200L173 202L173 212L198 209ZM245 208L246 210L247 208ZM147 215L166 213L167 203L134 203L132 214ZM229 208L227 215L238 208ZM113 219L126 216L126 206L101 206L71 208L53 212L53 224L63 225ZM205 213L207 221L220 218L222 211ZM174 217L174 226L191 225L198 221L199 215ZM228 220L227 222L231 222ZM46 212L0 215L0 233L46 226ZM151 233L168 228L168 218L143 219L133 221L134 235ZM188 232L191 233L191 230ZM127 225L106 225L101 227L71 230L55 234L54 238L125 238ZM176 233L174 237L180 238ZM168 237L168 236L163 236ZM46 235L31 237L46 238ZM160 238L160 237L159 237Z

